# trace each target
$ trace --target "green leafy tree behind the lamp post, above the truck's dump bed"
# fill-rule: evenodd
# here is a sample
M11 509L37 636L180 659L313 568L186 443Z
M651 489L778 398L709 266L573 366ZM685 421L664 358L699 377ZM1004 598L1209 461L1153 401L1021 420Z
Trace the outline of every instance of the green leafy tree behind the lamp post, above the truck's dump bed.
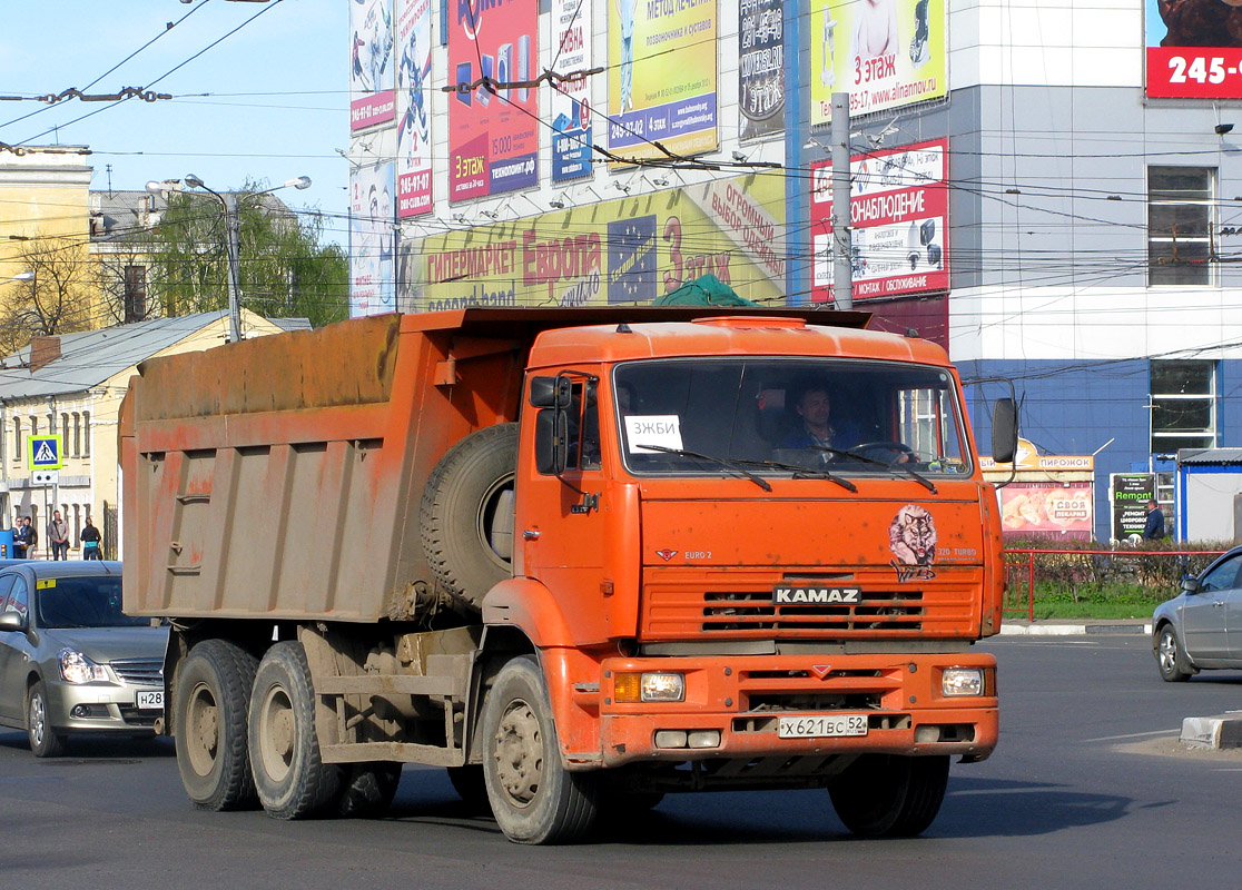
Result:
M241 304L266 318L301 317L314 326L349 317L349 258L322 243L320 214L296 214L262 185L236 192ZM145 233L150 293L165 314L229 307L224 207L209 194L174 191Z

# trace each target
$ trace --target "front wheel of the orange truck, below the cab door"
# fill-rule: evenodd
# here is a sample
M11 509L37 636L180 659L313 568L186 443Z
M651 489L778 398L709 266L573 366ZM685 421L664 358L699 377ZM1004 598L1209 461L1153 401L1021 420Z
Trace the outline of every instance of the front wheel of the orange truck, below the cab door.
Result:
M539 665L505 664L483 703L483 778L496 823L519 844L571 843L596 816L596 776L569 772Z

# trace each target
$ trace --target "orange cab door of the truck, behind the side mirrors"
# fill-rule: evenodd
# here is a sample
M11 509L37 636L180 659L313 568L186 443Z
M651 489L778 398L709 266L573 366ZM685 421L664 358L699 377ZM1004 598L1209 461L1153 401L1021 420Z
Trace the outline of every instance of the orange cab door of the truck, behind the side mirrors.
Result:
M555 376L555 371L546 375ZM571 381L568 408L568 465L560 475L540 473L534 458L538 417L527 417L524 472L518 475L518 525L514 544L520 549L517 566L525 577L540 581L558 600L576 643L609 638L604 598L609 575L607 477L601 459L600 384L596 369L566 367ZM529 384L528 384L529 393ZM539 408L529 412L553 411ZM609 444L611 447L611 443Z

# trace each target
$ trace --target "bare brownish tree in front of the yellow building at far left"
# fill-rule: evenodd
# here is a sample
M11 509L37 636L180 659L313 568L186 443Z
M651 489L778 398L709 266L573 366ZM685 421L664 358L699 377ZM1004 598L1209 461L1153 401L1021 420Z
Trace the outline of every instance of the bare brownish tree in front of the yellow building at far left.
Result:
M93 276L81 238L35 235L22 241L16 264L22 278L0 292L0 354L17 351L32 336L92 326Z

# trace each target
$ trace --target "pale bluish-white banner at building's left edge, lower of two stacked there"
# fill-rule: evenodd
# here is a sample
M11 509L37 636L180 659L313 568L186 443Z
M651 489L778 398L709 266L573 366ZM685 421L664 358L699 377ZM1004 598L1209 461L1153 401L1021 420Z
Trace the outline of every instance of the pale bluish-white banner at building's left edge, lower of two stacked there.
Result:
M349 317L396 312L392 161L349 173Z

